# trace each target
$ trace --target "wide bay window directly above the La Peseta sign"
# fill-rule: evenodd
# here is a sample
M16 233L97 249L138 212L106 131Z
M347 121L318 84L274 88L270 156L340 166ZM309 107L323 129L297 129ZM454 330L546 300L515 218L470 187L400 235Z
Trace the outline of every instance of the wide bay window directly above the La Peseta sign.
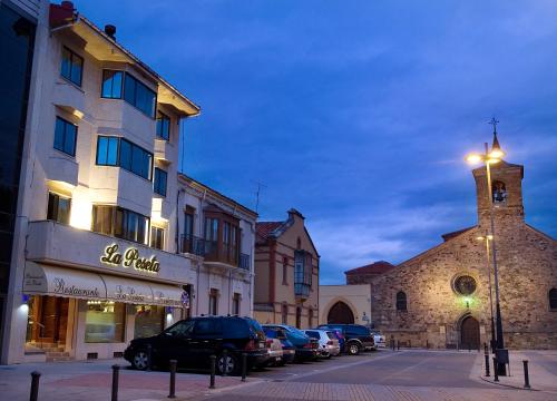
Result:
M94 205L91 231L147 244L149 218L123 207Z

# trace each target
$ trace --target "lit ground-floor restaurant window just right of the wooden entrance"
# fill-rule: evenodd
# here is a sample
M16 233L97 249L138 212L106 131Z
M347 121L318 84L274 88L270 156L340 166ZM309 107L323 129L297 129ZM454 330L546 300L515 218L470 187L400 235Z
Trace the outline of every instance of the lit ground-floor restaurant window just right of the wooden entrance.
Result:
M126 304L113 301L87 301L86 343L121 343L126 326Z

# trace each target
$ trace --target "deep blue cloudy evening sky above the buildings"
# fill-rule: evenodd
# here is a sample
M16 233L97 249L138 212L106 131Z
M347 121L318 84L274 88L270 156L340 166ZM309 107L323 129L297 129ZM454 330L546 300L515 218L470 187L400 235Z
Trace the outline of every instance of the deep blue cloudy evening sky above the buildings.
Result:
M499 120L557 236L557 2L76 1L202 107L183 167L262 219L295 207L321 283L476 223L463 155Z

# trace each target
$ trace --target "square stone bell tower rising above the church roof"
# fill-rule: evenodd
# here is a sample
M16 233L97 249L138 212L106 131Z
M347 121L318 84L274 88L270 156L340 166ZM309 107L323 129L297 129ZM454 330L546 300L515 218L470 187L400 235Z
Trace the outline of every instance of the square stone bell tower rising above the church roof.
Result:
M499 148L497 130L494 130L492 148ZM522 178L524 166L500 160L489 165L491 174L491 194L487 183L486 166L476 168L476 196L478 204L478 223L487 226L489 223L489 203L494 203L496 219L524 221Z

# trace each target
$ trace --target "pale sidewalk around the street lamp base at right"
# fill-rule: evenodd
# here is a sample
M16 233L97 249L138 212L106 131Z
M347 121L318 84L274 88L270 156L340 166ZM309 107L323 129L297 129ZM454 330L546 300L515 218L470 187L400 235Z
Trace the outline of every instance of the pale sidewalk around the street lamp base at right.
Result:
M557 350L540 351L509 351L510 374L499 376L499 383L494 382L492 354L489 355L490 376L486 378L486 365L483 353L478 355L476 361L476 371L480 372L480 378L485 382L494 385L508 385L516 389L524 389L524 364L528 361L528 373L531 390L555 391L557 392ZM509 373L509 372L507 372ZM556 395L557 398L557 395Z

